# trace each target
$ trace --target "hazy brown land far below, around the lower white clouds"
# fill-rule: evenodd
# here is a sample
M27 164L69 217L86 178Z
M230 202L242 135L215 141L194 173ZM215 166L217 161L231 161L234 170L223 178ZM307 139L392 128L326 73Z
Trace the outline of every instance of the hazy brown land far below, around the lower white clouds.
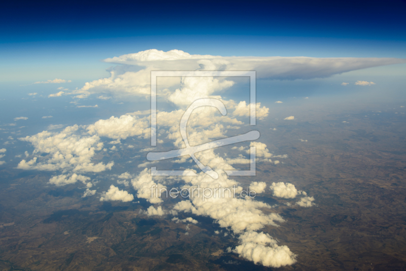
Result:
M316 204L302 208L297 198L274 198L269 189L257 198L278 204L272 212L286 220L263 231L298 255L277 269L406 269L406 123L404 115L377 114L314 112L259 125L261 142L289 157L257 163L257 177L238 181L290 182ZM75 185L50 186L49 174L10 169L0 176L0 270L273 269L227 253L236 236L210 218L179 214L199 223L175 223L171 216L140 215L145 200L100 202L81 198ZM111 180L104 182L107 190ZM174 203L165 200L163 207Z

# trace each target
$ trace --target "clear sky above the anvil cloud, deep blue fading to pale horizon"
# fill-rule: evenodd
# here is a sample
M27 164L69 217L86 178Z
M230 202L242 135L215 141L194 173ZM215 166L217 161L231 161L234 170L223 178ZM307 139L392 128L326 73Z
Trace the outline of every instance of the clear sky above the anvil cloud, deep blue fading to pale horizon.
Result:
M406 58L405 14L404 0L8 1L0 16L0 82L94 80L108 76L101 59L148 49Z

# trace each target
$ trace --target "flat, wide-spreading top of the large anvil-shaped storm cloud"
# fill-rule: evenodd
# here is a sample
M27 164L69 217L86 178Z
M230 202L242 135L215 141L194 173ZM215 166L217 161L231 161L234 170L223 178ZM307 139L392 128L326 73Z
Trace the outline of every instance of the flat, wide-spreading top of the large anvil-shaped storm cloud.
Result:
M104 61L138 66L154 66L163 71L256 71L257 78L312 79L366 69L406 63L401 58L306 57L306 56L213 56L191 55L181 50L156 49L107 58Z

